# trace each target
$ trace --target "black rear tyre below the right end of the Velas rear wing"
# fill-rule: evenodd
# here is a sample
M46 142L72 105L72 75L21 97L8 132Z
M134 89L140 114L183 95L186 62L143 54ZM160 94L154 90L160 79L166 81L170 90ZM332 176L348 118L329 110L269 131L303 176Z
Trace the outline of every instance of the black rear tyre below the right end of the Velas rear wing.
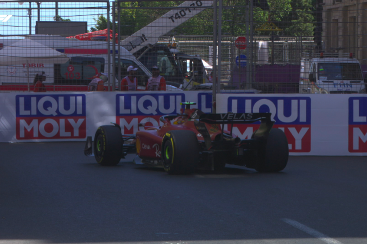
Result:
M287 166L288 140L281 129L272 128L265 144L265 150L258 152L258 172L278 172Z

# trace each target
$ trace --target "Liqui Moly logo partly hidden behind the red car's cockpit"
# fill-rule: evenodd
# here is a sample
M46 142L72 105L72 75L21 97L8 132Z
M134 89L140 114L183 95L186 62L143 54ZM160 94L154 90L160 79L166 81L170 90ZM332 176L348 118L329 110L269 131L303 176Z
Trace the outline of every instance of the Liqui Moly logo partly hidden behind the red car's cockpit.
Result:
M158 126L162 115L180 113L184 108L180 103L184 101L183 93L117 94L116 123L123 134L135 134L139 124Z

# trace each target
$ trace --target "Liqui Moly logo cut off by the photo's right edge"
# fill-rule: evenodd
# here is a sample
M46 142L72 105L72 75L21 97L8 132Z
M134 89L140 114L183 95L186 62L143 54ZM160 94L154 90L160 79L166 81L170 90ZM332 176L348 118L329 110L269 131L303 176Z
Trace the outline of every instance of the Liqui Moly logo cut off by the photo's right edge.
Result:
M350 97L348 113L348 150L367 153L367 97Z

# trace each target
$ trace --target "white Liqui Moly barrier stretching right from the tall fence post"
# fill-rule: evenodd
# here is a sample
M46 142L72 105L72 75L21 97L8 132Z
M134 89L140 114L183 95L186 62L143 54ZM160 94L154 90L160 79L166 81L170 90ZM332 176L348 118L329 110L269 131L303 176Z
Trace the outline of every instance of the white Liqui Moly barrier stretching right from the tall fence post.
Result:
M290 155L367 155L367 96L361 94L217 94L217 113L270 112ZM245 139L259 124L236 125Z

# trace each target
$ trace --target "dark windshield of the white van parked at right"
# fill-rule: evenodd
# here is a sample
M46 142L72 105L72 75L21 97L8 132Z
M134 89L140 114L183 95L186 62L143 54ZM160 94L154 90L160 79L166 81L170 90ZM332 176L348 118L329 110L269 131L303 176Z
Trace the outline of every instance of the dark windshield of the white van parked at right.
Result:
M318 63L319 80L362 80L358 63Z

